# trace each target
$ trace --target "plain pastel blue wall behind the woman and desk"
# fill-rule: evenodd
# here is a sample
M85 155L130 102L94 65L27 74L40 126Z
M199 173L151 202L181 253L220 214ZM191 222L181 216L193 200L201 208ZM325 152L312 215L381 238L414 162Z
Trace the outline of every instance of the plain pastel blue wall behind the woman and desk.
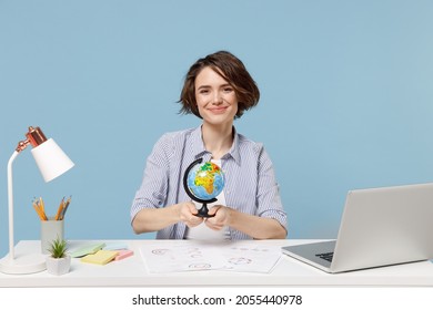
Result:
M67 238L153 238L129 218L145 158L200 124L175 102L222 49L261 89L235 125L273 159L289 238L335 237L348 189L433 180L432 16L420 0L0 1L0 255L30 125L75 168L44 184L30 149L17 158L16 241L39 238L34 196L54 214L69 195Z

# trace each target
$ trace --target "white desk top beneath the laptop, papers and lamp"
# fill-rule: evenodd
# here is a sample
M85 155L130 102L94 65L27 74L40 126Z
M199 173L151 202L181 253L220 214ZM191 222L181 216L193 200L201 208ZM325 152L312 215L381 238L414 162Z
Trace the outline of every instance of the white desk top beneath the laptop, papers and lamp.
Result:
M33 275L0 273L0 287L179 287L179 286L386 286L433 287L433 264L430 261L374 268L339 275L328 275L316 268L283 255L271 273L230 271L189 271L173 273L149 273L141 258L139 247L145 242L160 244L173 240L105 240L127 242L134 256L112 261L104 266L72 259L71 271L52 276L47 271ZM263 240L251 241L262 245L286 246L310 240ZM94 241L71 241L71 249ZM189 242L179 240L177 242ZM20 241L16 254L38 252L40 241Z

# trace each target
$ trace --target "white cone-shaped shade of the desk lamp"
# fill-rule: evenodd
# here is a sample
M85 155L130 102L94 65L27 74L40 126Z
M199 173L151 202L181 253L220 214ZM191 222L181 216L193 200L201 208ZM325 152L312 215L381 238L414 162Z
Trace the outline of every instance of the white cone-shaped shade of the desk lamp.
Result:
M73 167L72 161L52 138L33 147L31 154L44 182L50 182Z

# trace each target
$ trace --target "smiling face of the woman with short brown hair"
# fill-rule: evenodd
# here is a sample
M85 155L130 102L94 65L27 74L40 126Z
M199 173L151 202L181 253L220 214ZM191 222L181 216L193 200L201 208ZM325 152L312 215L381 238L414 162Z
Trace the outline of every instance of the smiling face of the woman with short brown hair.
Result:
M234 89L209 66L195 78L195 101L204 122L213 125L233 123L238 112Z

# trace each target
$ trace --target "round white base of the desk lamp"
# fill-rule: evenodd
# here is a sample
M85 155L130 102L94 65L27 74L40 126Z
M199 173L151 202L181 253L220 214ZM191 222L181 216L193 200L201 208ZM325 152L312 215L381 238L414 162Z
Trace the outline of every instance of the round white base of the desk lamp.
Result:
M0 260L0 272L9 275L28 275L47 269L46 256L30 254L10 259L9 255Z

